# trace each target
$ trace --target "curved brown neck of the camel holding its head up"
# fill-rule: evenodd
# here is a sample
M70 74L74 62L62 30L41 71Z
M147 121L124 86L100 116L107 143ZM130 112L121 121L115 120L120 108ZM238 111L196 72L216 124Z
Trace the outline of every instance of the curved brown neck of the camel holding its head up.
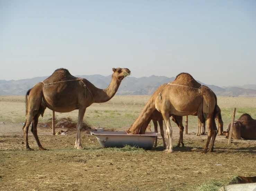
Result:
M121 82L122 82L122 79L121 80L117 79L113 73L112 80L107 88L99 89L99 88L95 87L96 90L93 93L95 103L104 103L104 102L109 101L111 98L113 98L115 96Z

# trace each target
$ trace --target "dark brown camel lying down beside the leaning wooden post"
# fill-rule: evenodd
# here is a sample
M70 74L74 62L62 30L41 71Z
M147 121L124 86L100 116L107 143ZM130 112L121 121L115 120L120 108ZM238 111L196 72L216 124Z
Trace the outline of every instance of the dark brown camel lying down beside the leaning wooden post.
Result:
M228 125L227 131L224 135L229 138L231 123ZM232 139L256 139L256 120L249 114L243 113L241 117L235 121L232 132Z

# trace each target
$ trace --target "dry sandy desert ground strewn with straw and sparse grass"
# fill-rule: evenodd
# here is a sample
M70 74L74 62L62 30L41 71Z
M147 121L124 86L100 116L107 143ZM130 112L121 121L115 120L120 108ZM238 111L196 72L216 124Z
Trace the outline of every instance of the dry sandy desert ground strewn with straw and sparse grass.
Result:
M84 121L91 127L124 131L138 117L150 96L114 96L106 103L92 104ZM256 98L218 97L224 130L232 119L249 113L256 119ZM71 118L78 111L55 113L56 119ZM225 184L236 175L256 176L256 140L232 140L217 135L214 152L202 154L206 135L196 136L197 118L188 117L185 147L174 153L163 151L162 139L156 148L102 149L89 131L82 131L83 150L74 149L76 130L56 128L65 135L52 135L52 111L39 118L38 137L46 151L39 151L29 131L26 151L22 131L25 96L0 96L0 190L199 190L210 183ZM179 129L173 127L177 145ZM185 118L184 123L185 126ZM68 131L67 131L68 130ZM152 125L153 131L153 125ZM217 165L218 164L218 165ZM221 165L220 165L221 164Z

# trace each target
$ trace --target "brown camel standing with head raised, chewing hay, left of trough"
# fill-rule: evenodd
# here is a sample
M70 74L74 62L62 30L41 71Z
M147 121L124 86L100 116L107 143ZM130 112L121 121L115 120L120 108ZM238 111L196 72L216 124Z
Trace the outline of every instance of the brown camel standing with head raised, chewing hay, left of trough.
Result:
M55 70L46 80L38 82L29 89L25 98L27 118L23 126L26 150L33 150L28 145L28 128L31 122L31 131L39 150L46 150L37 136L38 118L40 115L43 117L46 108L61 113L78 109L77 138L74 148L83 149L81 129L86 108L92 103L103 103L113 98L121 81L131 73L127 68L113 68L112 70L112 80L106 89L96 88L88 80L74 77L63 68Z

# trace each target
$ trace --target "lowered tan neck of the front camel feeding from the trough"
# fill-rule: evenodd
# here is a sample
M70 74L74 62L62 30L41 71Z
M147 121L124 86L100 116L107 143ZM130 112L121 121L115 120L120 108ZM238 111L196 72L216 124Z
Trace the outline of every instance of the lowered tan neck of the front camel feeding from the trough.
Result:
M150 117L151 113L153 113L153 111L155 111L155 110L156 110L155 100L149 99L149 101L147 102L147 104L145 105L143 110L141 111L139 117L134 121L132 126L129 128L129 131L132 134L139 134L143 123L145 122L145 120L147 120Z

